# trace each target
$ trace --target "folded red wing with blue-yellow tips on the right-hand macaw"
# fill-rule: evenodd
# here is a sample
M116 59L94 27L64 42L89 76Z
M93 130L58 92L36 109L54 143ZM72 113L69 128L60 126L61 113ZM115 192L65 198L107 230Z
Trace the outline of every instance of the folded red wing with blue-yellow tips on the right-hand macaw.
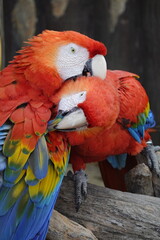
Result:
M145 130L155 124L148 96L136 79L138 76L125 71L113 72L119 81L120 114L117 122L140 143Z

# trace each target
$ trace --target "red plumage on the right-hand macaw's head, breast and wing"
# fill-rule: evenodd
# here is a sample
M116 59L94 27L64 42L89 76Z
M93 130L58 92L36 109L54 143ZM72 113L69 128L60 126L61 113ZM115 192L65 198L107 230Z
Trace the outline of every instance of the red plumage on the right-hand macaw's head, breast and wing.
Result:
M138 143L120 123L123 119L129 119L129 124L137 123L137 116L143 113L148 105L148 96L136 80L137 77L124 71L108 70L105 81L94 77L80 78L66 83L55 96L56 102L67 94L87 91L86 100L78 107L85 113L88 128L66 133L73 146L71 163L74 171L84 169L86 163L103 161L110 155L136 155L146 146L149 138L147 132L141 143ZM108 163L105 165L108 166ZM108 178L110 176L113 179L112 172L114 169L111 174L107 171Z

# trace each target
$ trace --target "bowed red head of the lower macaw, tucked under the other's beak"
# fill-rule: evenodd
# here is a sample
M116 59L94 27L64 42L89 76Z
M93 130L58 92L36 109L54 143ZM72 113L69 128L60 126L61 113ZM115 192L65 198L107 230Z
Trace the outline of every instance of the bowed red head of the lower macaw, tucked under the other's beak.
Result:
M85 134L92 129L109 129L116 122L120 108L112 79L93 76L66 81L52 101L58 106L58 114L49 122L49 131L54 128Z

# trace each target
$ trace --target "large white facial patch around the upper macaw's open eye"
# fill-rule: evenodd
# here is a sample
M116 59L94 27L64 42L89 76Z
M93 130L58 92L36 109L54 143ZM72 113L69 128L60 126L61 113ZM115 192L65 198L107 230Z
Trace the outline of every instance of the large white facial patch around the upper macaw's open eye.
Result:
M60 47L56 61L58 73L63 80L82 74L84 65L89 59L86 48L74 43Z

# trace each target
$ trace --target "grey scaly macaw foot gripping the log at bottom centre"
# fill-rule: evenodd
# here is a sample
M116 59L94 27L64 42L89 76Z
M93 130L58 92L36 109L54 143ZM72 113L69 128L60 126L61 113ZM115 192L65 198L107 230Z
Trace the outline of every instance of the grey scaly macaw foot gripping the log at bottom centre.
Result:
M87 174L84 170L76 171L73 174L71 171L68 172L67 176L69 176L75 185L75 208L76 212L78 212L83 200L87 197Z

